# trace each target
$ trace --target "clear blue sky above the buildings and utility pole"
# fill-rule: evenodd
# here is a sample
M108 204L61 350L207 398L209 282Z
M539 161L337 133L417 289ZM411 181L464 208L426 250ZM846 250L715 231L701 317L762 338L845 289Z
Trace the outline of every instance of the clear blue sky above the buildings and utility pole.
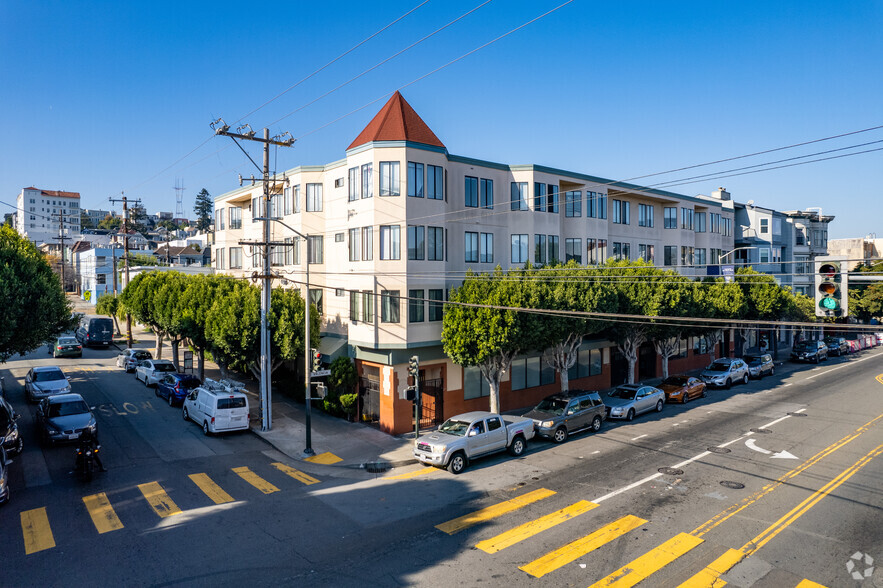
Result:
M174 211L182 181L192 217L200 188L217 196L254 170L229 139L211 136L217 117L248 114L255 130L297 137L273 155L279 171L341 159L383 100L327 123L564 2L493 0L300 109L482 1L430 0L252 112L422 0L7 0L0 201L34 185L109 208L124 190L149 212ZM575 0L402 93L450 153L628 179L883 125L881 30L876 0ZM873 141L883 129L640 181ZM779 210L821 206L836 216L831 238L883 237L883 151L669 189L719 185Z

